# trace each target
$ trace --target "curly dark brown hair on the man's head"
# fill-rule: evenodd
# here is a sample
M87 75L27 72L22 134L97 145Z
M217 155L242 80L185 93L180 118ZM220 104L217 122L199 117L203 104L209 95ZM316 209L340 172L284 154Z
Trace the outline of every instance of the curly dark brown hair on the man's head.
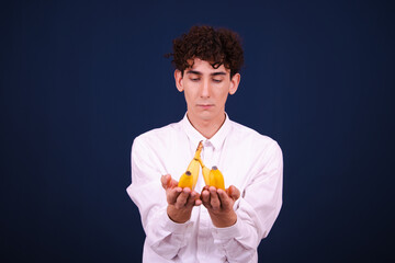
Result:
M176 69L183 72L193 66L190 59L200 58L210 61L213 68L224 65L230 69L230 78L239 72L244 64L241 39L239 35L227 28L215 30L212 26L192 26L188 34L173 39L173 57Z

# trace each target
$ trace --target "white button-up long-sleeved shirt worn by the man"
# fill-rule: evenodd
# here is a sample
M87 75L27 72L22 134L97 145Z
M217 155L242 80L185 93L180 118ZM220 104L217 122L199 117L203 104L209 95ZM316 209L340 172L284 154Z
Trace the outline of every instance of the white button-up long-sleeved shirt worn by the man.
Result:
M241 193L232 227L214 227L203 205L193 208L185 224L176 224L167 215L160 178L171 174L179 180L201 140L204 164L218 167L225 187L235 185ZM139 209L146 233L143 262L258 262L259 242L280 213L282 173L279 145L228 116L211 139L191 125L187 114L179 123L138 136L132 147L127 193ZM203 186L200 171L195 191Z

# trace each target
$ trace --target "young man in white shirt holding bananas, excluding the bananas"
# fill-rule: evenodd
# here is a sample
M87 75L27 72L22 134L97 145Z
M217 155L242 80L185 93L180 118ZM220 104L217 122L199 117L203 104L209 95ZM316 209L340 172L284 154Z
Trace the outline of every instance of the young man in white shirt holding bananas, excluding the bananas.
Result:
M179 123L138 136L132 184L146 233L144 262L258 262L282 204L282 152L267 136L232 122L228 94L240 82L242 49L236 33L193 26L173 41L176 87L187 114ZM203 140L202 160L217 165L226 191L178 187Z

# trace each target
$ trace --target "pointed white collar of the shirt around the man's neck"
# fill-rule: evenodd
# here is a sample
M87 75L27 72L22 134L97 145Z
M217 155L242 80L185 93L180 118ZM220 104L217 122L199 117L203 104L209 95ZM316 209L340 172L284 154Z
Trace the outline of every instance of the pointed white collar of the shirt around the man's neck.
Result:
M198 146L199 141L203 140L204 144L208 144L208 142L212 144L215 149L219 149L222 147L226 136L230 130L230 119L226 113L225 113L225 122L223 123L218 132L216 132L216 134L211 139L205 138L201 133L199 133L192 126L192 124L188 119L187 113L181 121L181 125L193 145Z

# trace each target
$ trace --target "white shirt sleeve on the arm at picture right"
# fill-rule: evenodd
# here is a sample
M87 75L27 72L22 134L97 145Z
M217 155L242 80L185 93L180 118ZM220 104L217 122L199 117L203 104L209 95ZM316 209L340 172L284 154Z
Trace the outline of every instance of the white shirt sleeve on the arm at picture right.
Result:
M214 243L228 262L253 262L257 248L266 238L282 205L282 152L276 142L260 156L261 164L251 172L241 197L235 204L237 222L229 228L214 228Z

